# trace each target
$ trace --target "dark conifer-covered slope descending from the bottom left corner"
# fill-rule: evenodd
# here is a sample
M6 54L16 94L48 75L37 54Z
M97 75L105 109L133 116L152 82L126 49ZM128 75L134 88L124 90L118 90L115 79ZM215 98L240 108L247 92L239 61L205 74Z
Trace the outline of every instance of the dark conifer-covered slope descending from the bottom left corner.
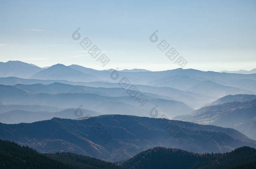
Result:
M0 140L1 169L122 169L123 167L71 153L39 154L28 146Z

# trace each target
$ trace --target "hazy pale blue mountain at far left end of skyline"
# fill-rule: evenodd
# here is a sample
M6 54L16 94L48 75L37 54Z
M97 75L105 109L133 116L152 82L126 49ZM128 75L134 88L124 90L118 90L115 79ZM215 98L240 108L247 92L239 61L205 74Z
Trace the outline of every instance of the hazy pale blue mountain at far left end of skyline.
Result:
M34 73L42 70L43 68L21 61L0 62L0 77L16 76L20 78L29 78Z

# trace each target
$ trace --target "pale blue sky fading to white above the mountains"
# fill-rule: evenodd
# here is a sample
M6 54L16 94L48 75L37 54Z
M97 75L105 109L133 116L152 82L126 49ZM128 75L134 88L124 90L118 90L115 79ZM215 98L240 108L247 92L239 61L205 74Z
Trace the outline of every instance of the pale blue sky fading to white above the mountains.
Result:
M178 68L149 41L158 30L203 71L256 68L255 0L0 1L0 61L38 66ZM71 34L81 28L81 39ZM89 37L110 58L104 68L79 45Z

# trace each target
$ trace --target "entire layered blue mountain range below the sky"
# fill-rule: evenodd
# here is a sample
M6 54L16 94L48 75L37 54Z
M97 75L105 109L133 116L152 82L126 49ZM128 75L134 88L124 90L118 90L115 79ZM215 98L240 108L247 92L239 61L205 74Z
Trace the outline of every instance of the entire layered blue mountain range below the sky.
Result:
M0 139L44 153L34 155L55 168L255 164L256 73L39 68L21 61L1 62L0 72ZM28 164L28 156L0 153Z

